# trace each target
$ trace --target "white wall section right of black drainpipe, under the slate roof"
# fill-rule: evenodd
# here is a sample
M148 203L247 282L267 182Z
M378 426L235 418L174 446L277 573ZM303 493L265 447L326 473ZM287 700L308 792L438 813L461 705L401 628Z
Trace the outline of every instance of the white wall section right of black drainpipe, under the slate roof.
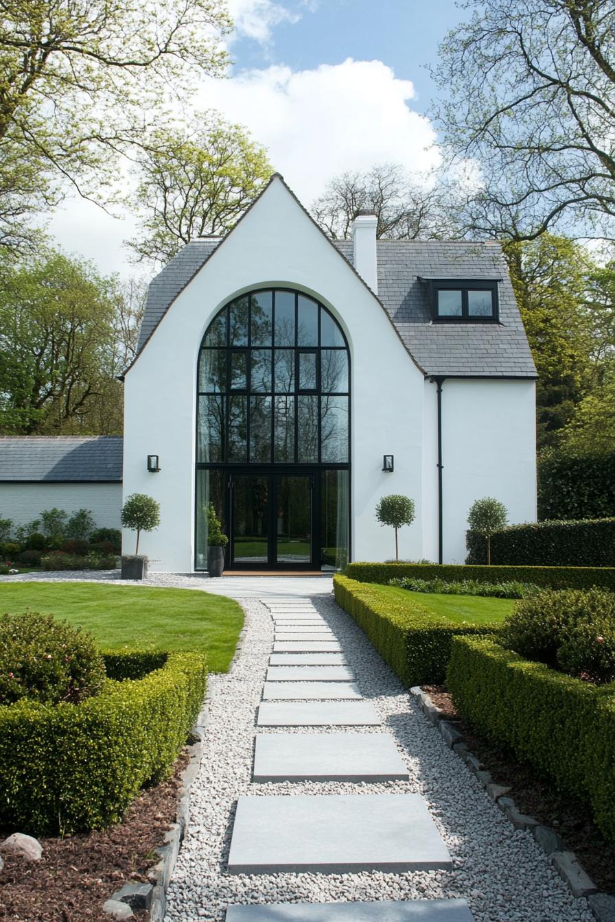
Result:
M466 559L475 500L503 502L510 525L536 521L535 390L533 381L444 381L444 563Z

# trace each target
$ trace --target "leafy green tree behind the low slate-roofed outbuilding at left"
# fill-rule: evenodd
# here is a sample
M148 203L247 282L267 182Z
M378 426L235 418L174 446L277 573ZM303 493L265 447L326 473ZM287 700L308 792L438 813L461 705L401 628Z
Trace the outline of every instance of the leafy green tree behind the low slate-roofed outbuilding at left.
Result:
M118 280L50 252L5 267L0 282L0 431L121 432L116 375L136 322L122 320L131 308Z

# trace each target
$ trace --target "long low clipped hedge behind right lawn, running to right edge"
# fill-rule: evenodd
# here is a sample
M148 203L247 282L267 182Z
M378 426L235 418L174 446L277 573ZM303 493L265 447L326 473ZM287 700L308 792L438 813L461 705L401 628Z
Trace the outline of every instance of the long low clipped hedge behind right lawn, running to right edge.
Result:
M361 583L383 583L413 576L456 583L476 579L481 583L531 583L549 589L598 588L615 591L615 567L505 567L456 563L349 563L344 573Z

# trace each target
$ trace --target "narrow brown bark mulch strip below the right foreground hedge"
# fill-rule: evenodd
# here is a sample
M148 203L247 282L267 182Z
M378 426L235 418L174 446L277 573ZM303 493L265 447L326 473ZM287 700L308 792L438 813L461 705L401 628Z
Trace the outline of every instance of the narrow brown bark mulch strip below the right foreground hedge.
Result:
M458 722L469 750L484 763L493 780L512 787L510 797L514 798L517 808L557 830L597 888L615 894L615 848L591 821L587 804L562 797L549 780L541 778L530 766L518 762L512 752L479 736L457 715L451 696L443 685L423 685L422 688L444 715Z

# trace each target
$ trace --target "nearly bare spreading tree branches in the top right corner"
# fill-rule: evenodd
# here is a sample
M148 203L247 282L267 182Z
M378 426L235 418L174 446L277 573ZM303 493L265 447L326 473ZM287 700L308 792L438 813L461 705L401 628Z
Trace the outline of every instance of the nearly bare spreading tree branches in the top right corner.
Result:
M613 234L615 6L612 0L467 0L432 74L456 159L484 185L476 231L536 238L567 222Z

